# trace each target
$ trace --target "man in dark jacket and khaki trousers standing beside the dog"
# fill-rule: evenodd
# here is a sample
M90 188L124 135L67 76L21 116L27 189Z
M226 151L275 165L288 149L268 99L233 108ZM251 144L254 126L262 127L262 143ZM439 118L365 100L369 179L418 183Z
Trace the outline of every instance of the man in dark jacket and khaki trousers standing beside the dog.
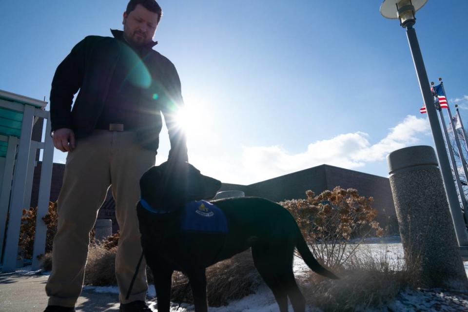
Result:
M52 81L50 113L54 145L68 152L58 199L52 272L46 312L75 311L81 292L89 233L109 185L116 201L120 238L116 275L120 310L151 311L143 262L126 294L141 255L136 203L139 179L155 163L161 112L171 151L169 162L187 161L184 133L175 114L182 105L176 68L153 50L162 11L155 0L130 0L123 32L88 36L60 63ZM78 92L72 109L72 101Z

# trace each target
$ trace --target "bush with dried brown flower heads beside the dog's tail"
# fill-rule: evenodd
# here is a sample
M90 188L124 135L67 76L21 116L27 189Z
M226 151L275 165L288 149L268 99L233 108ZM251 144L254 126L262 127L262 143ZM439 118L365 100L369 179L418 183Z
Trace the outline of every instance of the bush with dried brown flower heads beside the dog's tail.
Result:
M327 266L344 264L366 237L383 234L375 221L377 211L371 207L372 197L339 186L320 195L309 190L306 196L280 205L294 216L304 238L311 244L312 253ZM348 248L352 238L357 243Z

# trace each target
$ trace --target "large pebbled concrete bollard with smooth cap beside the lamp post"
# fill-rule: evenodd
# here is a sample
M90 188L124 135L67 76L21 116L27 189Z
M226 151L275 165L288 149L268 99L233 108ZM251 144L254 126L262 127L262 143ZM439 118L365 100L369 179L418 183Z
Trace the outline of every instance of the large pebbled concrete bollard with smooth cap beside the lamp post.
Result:
M430 146L387 156L405 260L423 287L468 290L437 158Z

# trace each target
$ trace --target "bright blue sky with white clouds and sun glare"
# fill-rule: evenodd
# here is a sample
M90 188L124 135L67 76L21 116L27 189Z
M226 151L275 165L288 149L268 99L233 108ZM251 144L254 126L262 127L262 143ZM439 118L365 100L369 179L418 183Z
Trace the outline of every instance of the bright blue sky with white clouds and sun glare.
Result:
M158 3L155 49L178 70L202 173L249 184L327 163L387 176L388 153L433 145L405 30L380 0ZM126 4L0 1L0 89L48 101L59 62L122 29ZM429 80L444 78L468 125L466 12L465 0L429 0L415 28ZM156 163L168 150L163 129Z

